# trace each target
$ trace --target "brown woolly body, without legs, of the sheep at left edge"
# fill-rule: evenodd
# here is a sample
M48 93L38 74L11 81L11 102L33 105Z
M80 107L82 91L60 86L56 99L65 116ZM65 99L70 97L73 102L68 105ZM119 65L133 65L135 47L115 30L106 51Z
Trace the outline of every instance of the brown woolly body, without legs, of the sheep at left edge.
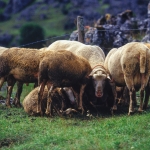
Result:
M30 78L37 78L39 62L43 57L43 50L10 48L0 55L0 76L12 74L16 79L28 82Z

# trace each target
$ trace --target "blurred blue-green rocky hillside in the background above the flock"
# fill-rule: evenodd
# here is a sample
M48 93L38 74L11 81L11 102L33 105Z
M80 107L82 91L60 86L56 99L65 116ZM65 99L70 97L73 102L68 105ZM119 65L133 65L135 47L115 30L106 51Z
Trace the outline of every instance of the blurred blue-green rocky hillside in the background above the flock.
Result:
M78 15L82 15L85 24L90 26L93 26L94 22L107 12L116 15L125 9L134 9L135 15L146 17L148 0L142 3L140 1L142 2L142 0L134 0L134 3L129 0L126 2L121 0L0 0L0 45L19 46L20 28L27 23L36 23L43 27L45 39L49 39L70 34L76 28L75 20ZM115 9L116 7L118 9Z

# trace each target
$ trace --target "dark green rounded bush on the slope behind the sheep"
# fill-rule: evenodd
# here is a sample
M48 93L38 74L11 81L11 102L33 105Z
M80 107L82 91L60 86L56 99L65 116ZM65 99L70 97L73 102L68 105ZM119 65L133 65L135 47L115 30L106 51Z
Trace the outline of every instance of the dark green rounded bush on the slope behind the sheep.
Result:
M28 23L21 27L20 29L20 44L26 45L29 43L44 40L44 29L37 24ZM35 44L26 45L29 48L42 48L45 44L44 41L37 42Z

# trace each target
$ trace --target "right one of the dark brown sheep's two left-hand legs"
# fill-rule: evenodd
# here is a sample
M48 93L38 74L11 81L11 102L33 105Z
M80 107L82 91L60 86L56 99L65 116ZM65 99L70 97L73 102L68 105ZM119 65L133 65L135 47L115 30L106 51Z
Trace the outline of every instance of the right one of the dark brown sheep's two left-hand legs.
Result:
M52 91L54 90L54 86L51 85L50 89L48 90L48 94L47 94L47 108L46 108L46 114L52 116L52 110L51 110L51 105L52 105L52 99L51 99L51 95L52 95Z

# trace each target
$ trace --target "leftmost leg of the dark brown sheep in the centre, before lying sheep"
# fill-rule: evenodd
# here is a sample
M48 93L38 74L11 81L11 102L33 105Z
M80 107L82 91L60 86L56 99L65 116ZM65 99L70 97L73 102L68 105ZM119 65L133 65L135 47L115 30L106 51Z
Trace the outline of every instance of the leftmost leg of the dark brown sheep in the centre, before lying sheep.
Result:
M43 96L45 85L46 85L46 80L43 80L43 82L41 83L41 85L39 87L39 91L38 91L38 102L37 102L37 113L38 114L39 113L43 114L42 109L41 109L41 101L42 101L42 96Z

